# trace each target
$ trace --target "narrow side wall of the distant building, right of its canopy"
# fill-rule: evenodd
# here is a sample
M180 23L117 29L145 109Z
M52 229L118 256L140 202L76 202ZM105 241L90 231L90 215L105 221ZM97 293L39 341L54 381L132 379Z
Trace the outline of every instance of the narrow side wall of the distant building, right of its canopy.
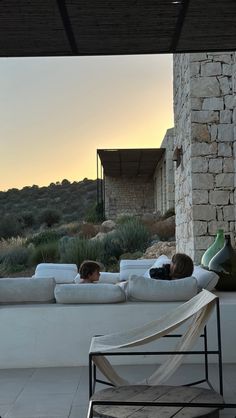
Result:
M165 148L165 154L157 164L154 174L155 211L162 214L175 207L173 147L174 129L168 129L161 144L161 148Z

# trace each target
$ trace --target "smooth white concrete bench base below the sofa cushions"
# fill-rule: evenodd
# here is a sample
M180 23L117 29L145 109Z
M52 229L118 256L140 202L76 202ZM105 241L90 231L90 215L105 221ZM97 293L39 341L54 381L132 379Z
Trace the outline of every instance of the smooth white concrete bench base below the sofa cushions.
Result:
M221 307L223 361L236 363L236 293L218 293ZM0 308L0 368L63 367L88 364L92 336L138 327L174 309L176 302L128 302L87 305L2 305ZM209 348L215 341L215 318L209 321ZM167 340L155 342L150 349ZM213 346L214 347L214 346ZM146 350L147 346L145 346ZM194 357L194 358L193 358ZM201 362L200 356L186 361ZM125 360L125 361L124 361ZM153 362L153 358L138 359ZM155 361L155 360L154 360ZM117 360L131 364L131 359ZM158 361L157 361L158 362ZM210 358L216 362L216 358ZM137 358L132 356L132 364Z

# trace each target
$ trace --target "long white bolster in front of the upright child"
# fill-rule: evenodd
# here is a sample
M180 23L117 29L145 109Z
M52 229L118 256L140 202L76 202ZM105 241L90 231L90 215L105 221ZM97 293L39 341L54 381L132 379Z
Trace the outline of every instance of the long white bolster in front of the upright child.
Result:
M115 284L59 284L55 288L57 303L116 303L125 302L124 290Z

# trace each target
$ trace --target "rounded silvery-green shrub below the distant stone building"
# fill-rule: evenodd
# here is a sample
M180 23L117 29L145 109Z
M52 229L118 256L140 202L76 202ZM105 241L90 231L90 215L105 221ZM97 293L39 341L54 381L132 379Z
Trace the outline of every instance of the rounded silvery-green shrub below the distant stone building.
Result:
M117 236L123 253L145 251L150 241L150 232L137 218L128 219L120 224Z

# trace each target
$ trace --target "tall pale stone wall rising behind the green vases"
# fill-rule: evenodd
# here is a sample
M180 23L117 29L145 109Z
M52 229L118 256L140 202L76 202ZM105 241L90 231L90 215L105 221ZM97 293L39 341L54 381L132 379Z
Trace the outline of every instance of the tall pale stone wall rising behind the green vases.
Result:
M199 262L217 229L235 237L235 53L174 56L177 250Z

